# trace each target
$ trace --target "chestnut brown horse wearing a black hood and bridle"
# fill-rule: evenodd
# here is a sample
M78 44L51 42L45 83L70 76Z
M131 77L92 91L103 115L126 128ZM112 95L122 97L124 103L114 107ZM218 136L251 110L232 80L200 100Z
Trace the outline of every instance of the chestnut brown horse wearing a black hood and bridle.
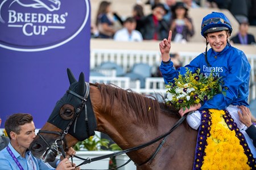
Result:
M86 90L87 83L83 73L80 74L79 82L69 69L68 76L71 83L69 91L57 102L47 123L39 131L40 137L37 135L31 143L30 150L38 158L46 156L48 160L52 160L56 153L52 154L51 150L54 149L50 147L56 148L56 143L64 143L67 150L92 135L94 124L90 125L93 118L89 112L94 113L96 117L96 130L108 134L123 150L142 145L167 133L180 118L177 111L157 100L106 84L89 84ZM86 93L89 94L85 103L87 111L81 107L81 101L84 101L82 96L86 96ZM74 116L79 114L79 111L81 113L76 119ZM82 127L85 124L82 117L84 114L88 114L89 122L85 128ZM82 122L79 122L80 120ZM67 126L69 131L65 129ZM67 135L63 131L68 131ZM60 135L63 138L60 138ZM137 169L192 169L196 137L197 131L189 128L184 122L168 136L154 160L137 166ZM159 143L160 141L127 155L135 164L141 164L150 158Z

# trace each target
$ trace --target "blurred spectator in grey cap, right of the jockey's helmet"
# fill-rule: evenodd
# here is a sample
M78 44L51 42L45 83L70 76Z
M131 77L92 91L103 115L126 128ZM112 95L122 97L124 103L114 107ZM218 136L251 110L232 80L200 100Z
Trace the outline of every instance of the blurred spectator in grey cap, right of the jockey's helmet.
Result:
M239 32L236 36L232 37L230 41L232 41L234 44L255 44L254 36L248 33L248 19L245 16L237 16L237 20L240 23Z

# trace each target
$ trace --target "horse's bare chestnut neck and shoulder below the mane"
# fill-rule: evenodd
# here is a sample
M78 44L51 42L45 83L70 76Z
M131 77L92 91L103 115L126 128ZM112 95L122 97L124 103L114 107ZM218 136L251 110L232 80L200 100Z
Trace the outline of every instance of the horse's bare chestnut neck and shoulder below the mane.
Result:
M97 93L98 94L91 96L94 113L97 117L97 130L108 134L123 150L142 145L167 133L178 120L178 118L160 113L157 126L155 127L148 123L138 122L137 118L135 118L133 114L127 113L125 107L121 105L118 107L115 106L114 113L110 113L109 111L110 107L113 106L109 106L107 111L103 113L101 99L98 99L100 92ZM143 165L142 169L156 168L154 164L155 162L161 162L161 158L164 158L167 163L161 164L160 169L192 169L196 136L197 132L186 127L185 124L178 126L177 129L168 136L152 164ZM155 152L160 142L161 141L146 148L133 151L127 155L129 155L135 163L142 163ZM179 159L182 158L184 158L186 162L180 164ZM170 164L170 162L172 163ZM159 163L156 164L158 164L158 168L156 169L159 169Z

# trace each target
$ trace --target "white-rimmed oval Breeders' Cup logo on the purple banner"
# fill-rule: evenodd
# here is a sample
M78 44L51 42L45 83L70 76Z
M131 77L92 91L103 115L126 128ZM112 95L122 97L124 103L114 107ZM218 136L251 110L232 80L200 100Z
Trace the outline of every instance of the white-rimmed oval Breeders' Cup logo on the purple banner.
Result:
M89 18L89 0L0 0L0 47L36 52L76 37Z

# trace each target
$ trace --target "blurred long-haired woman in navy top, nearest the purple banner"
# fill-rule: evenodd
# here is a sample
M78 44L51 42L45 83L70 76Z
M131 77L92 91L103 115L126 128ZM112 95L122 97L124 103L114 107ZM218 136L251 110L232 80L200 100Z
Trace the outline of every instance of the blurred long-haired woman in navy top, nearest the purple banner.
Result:
M112 39L115 33L114 22L109 17L111 12L110 5L110 2L102 1L97 11L96 26L99 31L98 38L101 39Z

